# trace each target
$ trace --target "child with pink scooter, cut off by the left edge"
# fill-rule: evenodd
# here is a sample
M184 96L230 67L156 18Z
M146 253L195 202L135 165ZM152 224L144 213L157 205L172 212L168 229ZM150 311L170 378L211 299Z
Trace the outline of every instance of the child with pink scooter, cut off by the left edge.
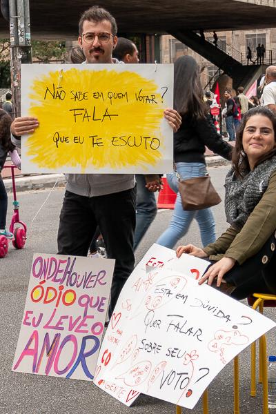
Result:
M8 195L1 177L1 170L5 164L8 153L15 166L20 168L21 160L15 146L10 139L10 124L12 118L3 109L0 109L0 236L12 239L13 234L6 230L8 210Z

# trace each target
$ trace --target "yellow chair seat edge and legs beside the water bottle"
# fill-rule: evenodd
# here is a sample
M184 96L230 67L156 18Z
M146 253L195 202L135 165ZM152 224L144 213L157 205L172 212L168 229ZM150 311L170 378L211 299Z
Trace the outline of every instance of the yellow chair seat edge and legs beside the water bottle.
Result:
M259 308L264 313L264 307L276 307L276 295L254 293L248 297L248 304L253 309ZM259 338L259 383L263 384L263 414L268 414L268 376L267 376L266 335ZM251 345L251 392L256 396L256 342Z

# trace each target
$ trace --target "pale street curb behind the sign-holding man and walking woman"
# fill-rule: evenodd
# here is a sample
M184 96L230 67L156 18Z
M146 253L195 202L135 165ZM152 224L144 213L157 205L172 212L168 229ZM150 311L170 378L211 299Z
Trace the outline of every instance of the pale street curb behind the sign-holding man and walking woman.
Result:
M206 164L208 167L230 166L231 161L220 157L219 155L207 155ZM4 184L7 193L12 193L12 179L5 178ZM42 175L25 175L24 177L15 177L17 191L41 190L41 188L64 187L66 179L63 174L42 174Z

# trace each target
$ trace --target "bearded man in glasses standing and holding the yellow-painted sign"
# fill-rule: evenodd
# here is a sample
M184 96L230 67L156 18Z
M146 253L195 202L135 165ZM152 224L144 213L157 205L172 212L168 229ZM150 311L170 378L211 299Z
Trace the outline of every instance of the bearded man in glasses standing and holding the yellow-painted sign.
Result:
M83 63L118 63L112 59L117 44L117 24L112 15L99 6L86 10L79 21L79 46ZM95 80L97 84L97 80ZM181 118L175 110L164 117L174 130ZM20 117L12 123L12 135L34 132L39 121ZM115 259L109 316L121 288L133 270L135 230L135 178L127 174L69 174L59 220L57 244L61 255L86 256L97 225L110 259Z

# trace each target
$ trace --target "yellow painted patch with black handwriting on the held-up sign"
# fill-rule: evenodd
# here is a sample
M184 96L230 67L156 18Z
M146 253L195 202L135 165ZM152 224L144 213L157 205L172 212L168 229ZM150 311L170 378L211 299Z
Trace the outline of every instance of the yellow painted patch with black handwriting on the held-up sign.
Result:
M83 171L155 165L167 90L135 72L48 72L30 94L30 115L39 119L26 144L32 163Z

